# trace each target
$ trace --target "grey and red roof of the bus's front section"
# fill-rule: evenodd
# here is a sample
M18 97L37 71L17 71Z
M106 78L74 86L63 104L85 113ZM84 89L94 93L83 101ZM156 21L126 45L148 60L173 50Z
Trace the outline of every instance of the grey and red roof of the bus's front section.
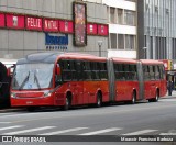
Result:
M46 53L35 53L26 55L24 58L18 60L18 65L20 64L31 64L31 63L55 63L59 58L74 58L74 59L95 59L95 60L106 60L105 57L98 57L89 54L79 54L79 53L55 53L55 52L46 52Z

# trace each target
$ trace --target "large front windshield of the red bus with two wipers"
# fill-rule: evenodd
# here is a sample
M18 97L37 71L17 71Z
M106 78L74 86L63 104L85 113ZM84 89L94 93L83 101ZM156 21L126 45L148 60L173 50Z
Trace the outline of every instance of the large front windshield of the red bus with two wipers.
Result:
M52 87L54 64L22 64L16 65L12 89L31 90Z

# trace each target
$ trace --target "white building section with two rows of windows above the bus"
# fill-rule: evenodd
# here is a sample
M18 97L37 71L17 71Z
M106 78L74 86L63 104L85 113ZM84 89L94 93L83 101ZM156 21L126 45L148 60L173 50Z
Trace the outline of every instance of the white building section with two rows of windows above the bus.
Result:
M138 57L138 19L135 0L102 0L109 24L108 56Z

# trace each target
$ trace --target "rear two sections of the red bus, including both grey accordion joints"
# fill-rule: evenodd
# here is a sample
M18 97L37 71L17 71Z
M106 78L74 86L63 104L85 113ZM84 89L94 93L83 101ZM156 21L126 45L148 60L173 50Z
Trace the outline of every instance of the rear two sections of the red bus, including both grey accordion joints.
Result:
M110 101L157 101L166 94L162 62L110 58L108 60Z

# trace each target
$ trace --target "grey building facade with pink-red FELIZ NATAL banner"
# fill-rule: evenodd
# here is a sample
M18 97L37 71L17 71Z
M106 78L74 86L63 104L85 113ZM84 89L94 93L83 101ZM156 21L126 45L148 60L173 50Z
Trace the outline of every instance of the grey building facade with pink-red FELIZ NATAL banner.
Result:
M36 52L108 56L107 7L78 0L1 0L0 58Z

